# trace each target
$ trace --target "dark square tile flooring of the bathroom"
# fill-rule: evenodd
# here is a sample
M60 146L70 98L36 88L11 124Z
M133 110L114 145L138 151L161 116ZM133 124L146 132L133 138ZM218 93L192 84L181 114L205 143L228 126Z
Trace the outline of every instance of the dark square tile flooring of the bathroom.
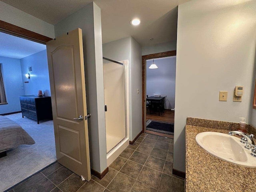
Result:
M172 175L173 140L142 134L110 165L102 180L82 181L59 163L10 192L184 192L184 179Z

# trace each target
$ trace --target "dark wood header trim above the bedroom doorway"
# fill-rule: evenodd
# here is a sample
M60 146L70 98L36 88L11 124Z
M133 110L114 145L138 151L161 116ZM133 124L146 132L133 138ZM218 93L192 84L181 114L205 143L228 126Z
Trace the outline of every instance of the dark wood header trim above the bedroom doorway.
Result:
M4 22L2 20L0 20L0 31L42 44L52 40L50 37L43 36L41 34Z

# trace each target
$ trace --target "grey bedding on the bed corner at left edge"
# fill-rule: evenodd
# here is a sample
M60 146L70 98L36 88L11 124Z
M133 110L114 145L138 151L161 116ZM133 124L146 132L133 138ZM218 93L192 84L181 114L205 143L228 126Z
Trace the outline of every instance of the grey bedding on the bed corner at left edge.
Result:
M17 123L0 116L0 152L21 144L35 144L34 139Z

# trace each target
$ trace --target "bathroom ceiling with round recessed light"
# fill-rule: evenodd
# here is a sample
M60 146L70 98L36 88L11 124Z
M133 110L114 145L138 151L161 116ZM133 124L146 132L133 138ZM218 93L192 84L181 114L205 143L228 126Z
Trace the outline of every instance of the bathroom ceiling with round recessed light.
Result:
M50 24L56 24L92 0L2 0ZM178 4L190 0L94 0L101 8L102 42L132 36L142 46L176 41ZM130 20L140 18L139 26ZM150 38L154 38L150 41Z

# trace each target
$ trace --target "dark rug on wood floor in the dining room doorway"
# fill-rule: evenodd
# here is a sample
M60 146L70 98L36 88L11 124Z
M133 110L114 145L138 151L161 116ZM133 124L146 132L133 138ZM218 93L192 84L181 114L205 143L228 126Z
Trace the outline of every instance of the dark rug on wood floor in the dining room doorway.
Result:
M146 130L174 135L174 123L149 119L146 122Z

